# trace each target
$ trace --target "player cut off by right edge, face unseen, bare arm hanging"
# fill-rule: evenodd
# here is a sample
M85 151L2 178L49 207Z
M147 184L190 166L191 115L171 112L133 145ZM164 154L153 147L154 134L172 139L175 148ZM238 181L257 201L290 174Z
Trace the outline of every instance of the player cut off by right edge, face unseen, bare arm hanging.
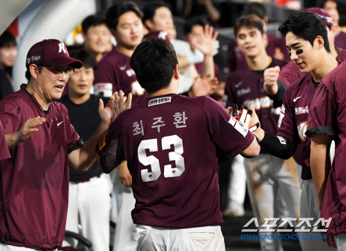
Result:
M320 217L329 219L327 243L338 251L346 250L345 235L345 74L346 63L329 65L312 99L305 134L311 137L310 165ZM325 65L327 66L327 65ZM328 156L332 139L335 158Z

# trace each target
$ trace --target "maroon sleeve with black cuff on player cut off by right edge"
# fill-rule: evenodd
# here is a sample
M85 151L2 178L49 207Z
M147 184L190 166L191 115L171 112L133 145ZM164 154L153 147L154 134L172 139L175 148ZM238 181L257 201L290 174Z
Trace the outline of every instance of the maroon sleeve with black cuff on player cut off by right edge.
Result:
M311 102L305 135L311 137L312 134L322 133L334 136L333 118L335 111L334 96L321 81Z

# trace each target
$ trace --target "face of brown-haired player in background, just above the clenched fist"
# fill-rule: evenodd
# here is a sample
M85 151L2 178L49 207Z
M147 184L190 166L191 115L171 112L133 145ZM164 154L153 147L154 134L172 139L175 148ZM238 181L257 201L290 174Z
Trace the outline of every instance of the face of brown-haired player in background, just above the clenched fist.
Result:
M256 57L265 50L266 35L255 27L242 26L237 33L237 43L241 51L248 57Z

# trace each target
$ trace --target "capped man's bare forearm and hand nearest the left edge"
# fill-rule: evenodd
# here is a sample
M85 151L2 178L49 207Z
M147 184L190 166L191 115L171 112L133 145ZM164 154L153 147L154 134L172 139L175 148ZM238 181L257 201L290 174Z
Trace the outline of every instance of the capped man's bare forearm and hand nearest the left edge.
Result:
M41 117L30 119L24 123L24 125L19 131L5 134L8 149L11 149L19 143L26 141L31 136L31 134L33 134L33 132L39 130L39 128L35 127L42 125L44 122L45 118Z

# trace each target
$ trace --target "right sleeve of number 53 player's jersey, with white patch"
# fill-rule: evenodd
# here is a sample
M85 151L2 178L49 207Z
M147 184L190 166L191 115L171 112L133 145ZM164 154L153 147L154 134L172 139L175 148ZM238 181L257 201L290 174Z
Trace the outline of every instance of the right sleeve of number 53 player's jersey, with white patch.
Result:
M205 116L211 139L218 148L217 157L221 161L242 153L254 141L254 134L241 122L211 98L206 99Z

